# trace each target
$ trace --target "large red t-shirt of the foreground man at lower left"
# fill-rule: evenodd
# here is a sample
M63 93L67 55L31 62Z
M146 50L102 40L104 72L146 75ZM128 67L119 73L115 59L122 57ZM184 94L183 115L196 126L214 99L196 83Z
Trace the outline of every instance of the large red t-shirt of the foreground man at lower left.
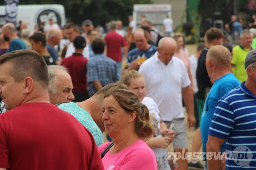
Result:
M104 169L92 134L48 103L27 103L0 114L0 168Z

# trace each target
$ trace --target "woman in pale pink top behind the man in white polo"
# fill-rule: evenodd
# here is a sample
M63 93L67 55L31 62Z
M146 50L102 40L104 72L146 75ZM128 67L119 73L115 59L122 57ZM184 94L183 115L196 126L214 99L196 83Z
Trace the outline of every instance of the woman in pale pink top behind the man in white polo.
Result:
M187 55L187 53L185 51L183 51L183 44L184 44L184 39L182 37L181 34L174 34L172 36L172 38L176 41L177 43L177 47L176 47L176 51L174 53L174 56L177 57L178 59L181 59L188 71L188 75L189 75L189 79L191 82L191 90L193 91L194 94L194 85L193 85L193 77L192 74L190 73L190 63L189 63L189 56Z

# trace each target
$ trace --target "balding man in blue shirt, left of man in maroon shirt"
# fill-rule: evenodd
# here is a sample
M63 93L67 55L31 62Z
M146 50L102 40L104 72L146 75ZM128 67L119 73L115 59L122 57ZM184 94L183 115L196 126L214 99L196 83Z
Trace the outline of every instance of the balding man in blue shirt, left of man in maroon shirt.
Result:
M59 55L58 52L54 49L54 46L60 44L60 40L62 39L61 30L54 27L49 28L46 33L46 39L46 48L48 52L55 59L55 61L58 61ZM58 64L58 62L56 62L56 64ZM59 63L59 65L60 64L61 63Z

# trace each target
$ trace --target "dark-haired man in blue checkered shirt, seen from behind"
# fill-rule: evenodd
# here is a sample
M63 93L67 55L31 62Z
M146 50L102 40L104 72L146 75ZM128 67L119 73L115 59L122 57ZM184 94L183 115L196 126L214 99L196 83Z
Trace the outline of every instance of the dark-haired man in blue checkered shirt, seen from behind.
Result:
M90 58L87 63L87 91L90 97L105 85L120 79L116 62L103 54L104 41L97 38L91 43L91 47L94 57Z

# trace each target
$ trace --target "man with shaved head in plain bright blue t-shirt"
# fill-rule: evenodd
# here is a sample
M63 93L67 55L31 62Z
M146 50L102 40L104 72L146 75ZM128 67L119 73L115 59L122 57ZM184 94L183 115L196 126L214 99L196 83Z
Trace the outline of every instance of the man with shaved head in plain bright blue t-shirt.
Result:
M222 96L240 84L234 74L230 72L230 57L230 51L221 45L211 47L206 55L206 69L209 77L214 80L214 84L206 97L200 122L203 152L206 152L209 128L216 104ZM225 150L226 145L224 143L221 147L221 152ZM205 164L205 169L207 169L207 163Z

